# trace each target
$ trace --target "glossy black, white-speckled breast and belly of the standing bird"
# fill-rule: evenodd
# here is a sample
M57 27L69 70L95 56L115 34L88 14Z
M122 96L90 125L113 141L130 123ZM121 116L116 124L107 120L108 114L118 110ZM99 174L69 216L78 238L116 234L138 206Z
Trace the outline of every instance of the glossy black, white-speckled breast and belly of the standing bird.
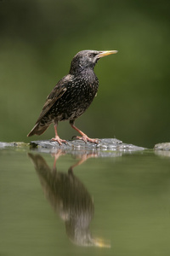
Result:
M77 119L93 102L98 86L95 74L72 77L65 93L54 104L53 117L59 121Z

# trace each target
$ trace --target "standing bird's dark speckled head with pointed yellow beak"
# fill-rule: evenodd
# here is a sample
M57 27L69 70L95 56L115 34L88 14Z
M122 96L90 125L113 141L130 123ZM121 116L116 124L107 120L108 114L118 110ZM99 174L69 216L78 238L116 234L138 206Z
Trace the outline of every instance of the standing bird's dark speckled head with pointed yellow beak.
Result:
M92 50L79 51L71 61L70 73L79 73L85 68L94 68L97 61L106 55L116 54L117 50Z

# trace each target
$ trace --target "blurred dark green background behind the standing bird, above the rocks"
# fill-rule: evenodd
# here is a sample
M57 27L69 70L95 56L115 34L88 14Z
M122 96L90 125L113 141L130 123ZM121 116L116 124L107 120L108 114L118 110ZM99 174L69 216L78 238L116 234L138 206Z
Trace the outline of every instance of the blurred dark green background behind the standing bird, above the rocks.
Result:
M95 67L99 93L76 125L89 137L152 148L169 142L170 2L0 1L0 141L27 138L54 85L82 49L117 49ZM68 122L59 136L75 135Z

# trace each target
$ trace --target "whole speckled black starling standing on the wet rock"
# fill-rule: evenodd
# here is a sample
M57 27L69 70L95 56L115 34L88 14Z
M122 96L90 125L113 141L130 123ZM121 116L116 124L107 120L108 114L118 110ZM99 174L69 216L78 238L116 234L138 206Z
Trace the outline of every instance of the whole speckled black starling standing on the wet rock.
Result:
M116 54L117 50L81 50L71 61L70 72L55 85L54 89L48 95L42 108L36 124L27 135L41 135L48 129L48 126L54 123L55 137L51 141L66 143L61 139L57 132L60 121L69 120L73 129L75 129L85 143L99 143L98 139L88 137L84 132L75 126L75 120L84 113L99 88L99 79L94 73L94 67L100 58Z

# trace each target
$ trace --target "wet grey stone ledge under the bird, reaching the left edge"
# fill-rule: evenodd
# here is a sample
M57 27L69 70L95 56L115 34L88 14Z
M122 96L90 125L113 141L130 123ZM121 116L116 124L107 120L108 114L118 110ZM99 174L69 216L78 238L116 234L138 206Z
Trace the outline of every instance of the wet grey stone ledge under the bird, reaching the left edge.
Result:
M141 151L145 148L134 146L132 144L122 143L116 138L100 139L99 143L85 143L81 140L71 140L67 143L59 143L48 141L32 141L31 143L1 143L0 148L31 148L38 152L57 153L61 150L65 154L95 154L98 157L115 157L121 156L123 153Z

